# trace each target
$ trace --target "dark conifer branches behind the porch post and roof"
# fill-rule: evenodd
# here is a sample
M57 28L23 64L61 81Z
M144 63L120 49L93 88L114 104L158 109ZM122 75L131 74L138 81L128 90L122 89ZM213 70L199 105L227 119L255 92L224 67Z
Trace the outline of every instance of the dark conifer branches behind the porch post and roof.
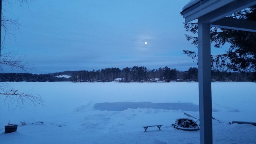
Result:
M256 21L256 6L241 10L228 17L244 20ZM197 23L184 24L186 31L196 34L198 32ZM198 44L196 36L186 35L192 44ZM226 43L230 48L224 54L212 56L212 68L214 70L232 70L235 72L252 72L253 79L256 80L256 33L241 30L231 30L211 27L211 42L216 48L222 48ZM197 52L183 50L193 60L197 60Z

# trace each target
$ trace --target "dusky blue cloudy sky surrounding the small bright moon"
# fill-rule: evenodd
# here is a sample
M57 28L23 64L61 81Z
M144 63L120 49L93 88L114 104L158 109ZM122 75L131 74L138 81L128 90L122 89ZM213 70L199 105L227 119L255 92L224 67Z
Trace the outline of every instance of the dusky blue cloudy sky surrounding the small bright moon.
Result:
M182 50L197 51L184 36L180 12L190 0L41 0L4 15L20 31L6 50L26 54L36 72L168 66L196 67ZM147 42L147 44L145 44Z

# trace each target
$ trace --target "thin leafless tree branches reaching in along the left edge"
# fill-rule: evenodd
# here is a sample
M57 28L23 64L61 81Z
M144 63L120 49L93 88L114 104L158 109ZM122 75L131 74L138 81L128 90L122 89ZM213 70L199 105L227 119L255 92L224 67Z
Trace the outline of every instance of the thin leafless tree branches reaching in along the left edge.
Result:
M18 5L22 7L24 4L28 5L28 1L30 0L2 0L4 3L3 11L6 12L7 7L12 7L14 5ZM3 14L3 12L1 13ZM19 27L21 26L18 23L18 19L13 20L11 18L7 18L6 16L2 16L1 19L1 29L4 32L4 37L1 41L1 48L4 48L4 40L6 36L10 38L10 36L13 36L15 38L15 35L12 33L13 30L19 30ZM0 36L1 39L1 36ZM6 52L4 54L0 55L0 71L3 72L3 67L7 66L12 71L16 69L17 71L22 70L23 72L27 72L27 70L31 70L32 68L28 68L28 63L22 64L23 60L25 58L25 55L18 55L17 52ZM0 96L5 96L4 98L4 104L8 105L8 108L10 106L14 106L12 111L14 111L16 108L26 108L26 104L37 106L42 105L44 106L44 100L41 98L39 94L32 93L31 90L28 92L19 92L18 90L14 89L12 86L10 86L8 83L1 83L0 85ZM10 110L10 109L9 109Z

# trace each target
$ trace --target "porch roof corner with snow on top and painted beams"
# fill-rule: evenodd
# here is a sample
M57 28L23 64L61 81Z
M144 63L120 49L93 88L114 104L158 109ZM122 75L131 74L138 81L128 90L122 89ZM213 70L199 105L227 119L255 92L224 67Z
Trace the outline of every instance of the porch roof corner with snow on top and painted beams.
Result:
M202 18L213 27L256 32L256 21L226 17L254 5L256 0L192 0L180 14L185 23Z

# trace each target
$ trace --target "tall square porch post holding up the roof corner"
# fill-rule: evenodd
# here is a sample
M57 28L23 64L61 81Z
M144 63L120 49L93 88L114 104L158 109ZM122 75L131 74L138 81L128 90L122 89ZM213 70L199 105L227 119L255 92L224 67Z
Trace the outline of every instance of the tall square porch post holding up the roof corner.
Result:
M212 88L210 24L198 18L198 83L200 144L212 144Z

